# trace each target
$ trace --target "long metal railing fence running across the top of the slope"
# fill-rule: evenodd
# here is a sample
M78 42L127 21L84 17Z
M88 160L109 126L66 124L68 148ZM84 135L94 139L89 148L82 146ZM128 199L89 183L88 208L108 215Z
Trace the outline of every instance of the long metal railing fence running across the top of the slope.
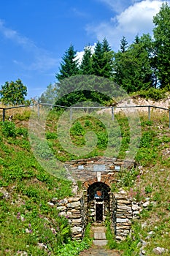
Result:
M2 121L5 121L6 118L6 111L7 110L12 110L12 109L16 109L16 108L28 108L28 107L32 107L32 106L37 106L37 113L38 113L38 117L40 117L40 105L42 106L48 106L50 108L64 108L69 110L69 118L72 121L72 116L73 116L73 111L80 109L80 110L94 110L94 109L110 109L111 113L112 113L112 120L115 119L115 110L117 109L123 109L123 108L147 108L147 115L148 115L148 120L151 120L151 109L155 108L155 109L160 109L160 110L164 110L166 112L169 113L169 129L170 129L170 108L162 108L162 107L158 107L155 105L130 105L130 106L112 106L112 107L101 107L101 106L88 106L88 107L66 107L66 106L61 106L61 105L53 105L53 104L47 104L47 103L38 103L36 105L20 105L20 106L13 106L13 107L8 107L8 108L0 108L2 110Z

